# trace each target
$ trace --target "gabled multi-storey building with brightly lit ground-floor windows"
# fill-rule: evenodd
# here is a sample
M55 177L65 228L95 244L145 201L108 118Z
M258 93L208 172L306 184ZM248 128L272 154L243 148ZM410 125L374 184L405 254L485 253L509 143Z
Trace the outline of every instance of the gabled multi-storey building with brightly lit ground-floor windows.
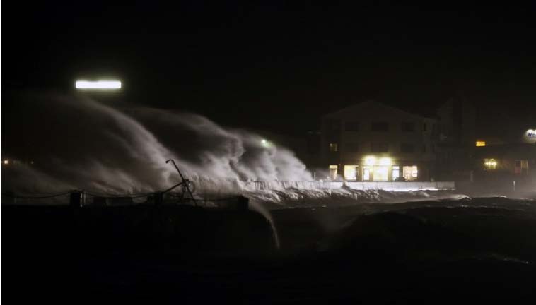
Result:
M437 121L367 101L322 117L326 178L433 181Z

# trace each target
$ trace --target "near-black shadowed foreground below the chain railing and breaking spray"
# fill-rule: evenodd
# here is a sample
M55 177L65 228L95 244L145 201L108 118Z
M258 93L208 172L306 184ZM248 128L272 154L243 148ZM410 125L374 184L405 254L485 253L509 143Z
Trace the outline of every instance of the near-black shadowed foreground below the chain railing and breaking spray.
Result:
M493 201L493 202L491 202ZM535 297L533 203L2 207L4 299L453 304Z

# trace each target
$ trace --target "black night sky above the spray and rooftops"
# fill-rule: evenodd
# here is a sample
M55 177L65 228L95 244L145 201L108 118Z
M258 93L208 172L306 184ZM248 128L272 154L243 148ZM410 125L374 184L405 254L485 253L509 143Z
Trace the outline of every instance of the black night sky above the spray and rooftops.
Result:
M118 76L117 99L281 133L366 99L433 112L462 95L536 117L535 1L16 2L2 10L4 96Z

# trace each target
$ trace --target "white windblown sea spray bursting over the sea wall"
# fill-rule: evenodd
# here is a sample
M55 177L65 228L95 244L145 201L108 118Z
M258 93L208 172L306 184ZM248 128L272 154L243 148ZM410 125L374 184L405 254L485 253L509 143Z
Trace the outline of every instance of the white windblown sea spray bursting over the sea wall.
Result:
M11 191L163 190L178 181L168 159L209 191L235 188L238 181L312 179L289 150L264 147L260 136L196 114L118 110L86 97L40 95L18 100L10 116L18 119L3 126L16 139L8 145L28 148L35 159L30 167L3 167L10 174L2 189Z

